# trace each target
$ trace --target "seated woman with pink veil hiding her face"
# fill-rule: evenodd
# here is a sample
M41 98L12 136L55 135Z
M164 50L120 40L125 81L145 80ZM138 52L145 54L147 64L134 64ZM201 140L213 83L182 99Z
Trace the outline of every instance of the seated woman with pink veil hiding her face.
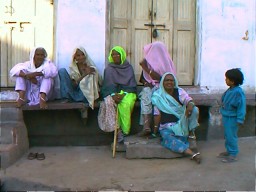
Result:
M140 62L142 67L140 82L143 83L144 88L139 94L141 101L140 124L143 125L143 130L138 134L141 137L151 133L151 96L158 89L161 76L166 72L176 75L175 66L164 43L155 41L145 45L143 50L144 59Z

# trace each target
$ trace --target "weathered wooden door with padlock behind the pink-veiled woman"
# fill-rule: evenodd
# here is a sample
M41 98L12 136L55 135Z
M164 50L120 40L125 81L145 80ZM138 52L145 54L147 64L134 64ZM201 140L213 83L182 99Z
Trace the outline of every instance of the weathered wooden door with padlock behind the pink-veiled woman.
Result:
M110 47L121 45L138 81L143 46L164 42L181 85L192 85L195 66L195 0L110 1Z

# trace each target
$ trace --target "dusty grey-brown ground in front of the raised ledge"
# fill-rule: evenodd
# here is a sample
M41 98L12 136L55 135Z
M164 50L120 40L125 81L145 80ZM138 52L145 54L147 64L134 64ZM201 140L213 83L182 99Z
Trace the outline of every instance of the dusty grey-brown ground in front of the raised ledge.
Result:
M225 164L216 158L224 140L198 142L203 161L189 158L112 158L109 146L33 147L46 159L24 155L1 170L4 190L103 191L255 191L255 137L239 139L239 160Z

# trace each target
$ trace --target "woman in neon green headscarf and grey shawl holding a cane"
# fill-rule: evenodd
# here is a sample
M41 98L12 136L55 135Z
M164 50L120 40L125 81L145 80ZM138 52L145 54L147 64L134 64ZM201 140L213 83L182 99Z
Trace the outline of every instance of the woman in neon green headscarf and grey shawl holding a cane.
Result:
M104 101L100 105L98 123L103 131L114 131L117 110L118 125L121 128L117 140L121 143L123 134L127 135L130 132L137 83L133 68L126 60L126 53L122 47L112 48L108 60L101 88Z

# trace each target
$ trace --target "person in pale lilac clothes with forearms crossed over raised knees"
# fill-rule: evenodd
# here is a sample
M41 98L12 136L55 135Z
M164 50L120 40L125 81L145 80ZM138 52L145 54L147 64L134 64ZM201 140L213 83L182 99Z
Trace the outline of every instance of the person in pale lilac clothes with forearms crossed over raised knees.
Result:
M57 74L57 67L47 59L46 50L43 47L34 48L29 61L18 63L10 70L10 76L16 79L15 90L19 94L17 107L28 102L46 109L47 100L53 99L54 77Z

